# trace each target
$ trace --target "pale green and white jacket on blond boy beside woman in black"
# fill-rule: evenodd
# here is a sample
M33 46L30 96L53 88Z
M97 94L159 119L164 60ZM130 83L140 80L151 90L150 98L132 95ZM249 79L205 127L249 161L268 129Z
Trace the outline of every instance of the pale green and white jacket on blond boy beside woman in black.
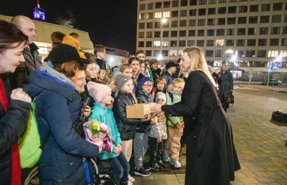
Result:
M173 91L168 90L166 95L167 95L166 105L173 105L181 101L181 93L176 94ZM176 124L181 122L183 122L183 117L167 117L167 126L169 127L176 127Z

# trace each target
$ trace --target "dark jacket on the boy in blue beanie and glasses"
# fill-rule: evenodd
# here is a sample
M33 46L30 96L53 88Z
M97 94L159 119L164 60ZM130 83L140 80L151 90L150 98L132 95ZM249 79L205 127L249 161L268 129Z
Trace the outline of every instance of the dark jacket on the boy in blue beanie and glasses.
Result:
M138 103L153 103L153 95L149 93L145 94L141 89L138 89L136 92L136 98ZM144 122L139 128L136 128L135 131L138 133L146 133L151 127L151 122Z

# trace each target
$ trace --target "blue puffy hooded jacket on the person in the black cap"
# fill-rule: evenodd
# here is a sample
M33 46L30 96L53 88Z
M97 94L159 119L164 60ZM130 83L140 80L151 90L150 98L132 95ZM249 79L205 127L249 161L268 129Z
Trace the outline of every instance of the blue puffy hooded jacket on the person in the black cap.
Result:
M37 122L41 141L52 135L39 159L41 185L86 185L82 157L96 158L96 145L81 138L72 128L80 115L81 100L73 83L50 67L33 74L29 95L37 96Z

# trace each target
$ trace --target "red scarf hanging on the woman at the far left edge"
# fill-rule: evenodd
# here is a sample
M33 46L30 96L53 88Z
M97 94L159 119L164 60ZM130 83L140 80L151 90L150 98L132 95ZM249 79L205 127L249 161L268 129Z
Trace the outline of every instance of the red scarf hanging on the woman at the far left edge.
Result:
M6 94L2 78L0 78L0 103L4 108L4 112L6 112L9 107L9 98ZM11 156L12 156L11 185L21 185L21 166L20 166L18 142L16 142L11 147Z

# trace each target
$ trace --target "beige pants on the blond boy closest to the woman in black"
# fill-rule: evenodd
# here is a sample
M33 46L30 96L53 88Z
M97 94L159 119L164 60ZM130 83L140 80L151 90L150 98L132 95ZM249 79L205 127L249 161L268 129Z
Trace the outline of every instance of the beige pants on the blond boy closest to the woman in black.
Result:
M165 142L163 154L170 155L172 161L179 160L180 138L183 134L183 129L168 127L168 139Z

